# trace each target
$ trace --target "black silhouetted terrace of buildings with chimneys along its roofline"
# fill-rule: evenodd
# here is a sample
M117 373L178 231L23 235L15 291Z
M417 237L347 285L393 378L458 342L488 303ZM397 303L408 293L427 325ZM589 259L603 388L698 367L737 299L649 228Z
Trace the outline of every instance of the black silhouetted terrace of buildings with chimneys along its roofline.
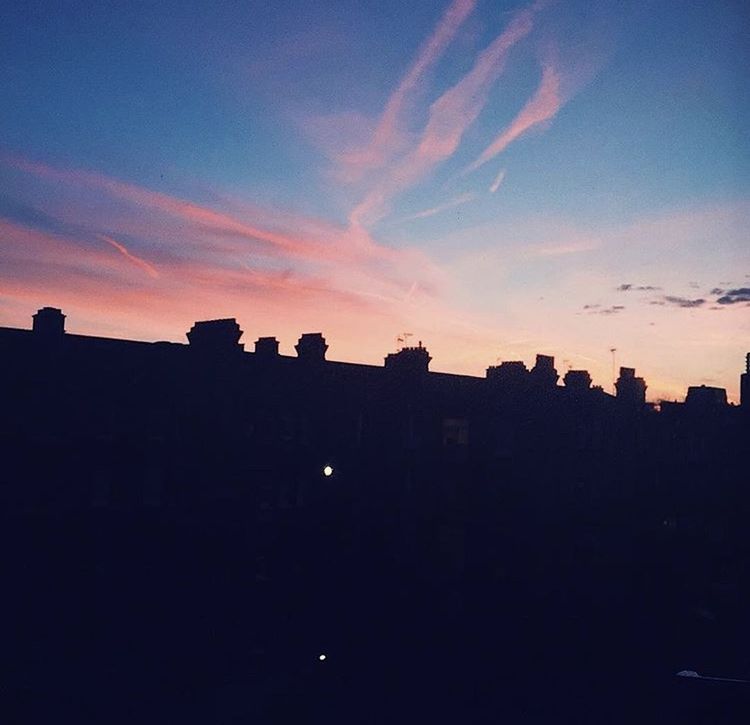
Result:
M320 332L296 355L274 337L249 351L235 319L196 322L187 344L65 324L44 307L31 330L0 328L3 530L45 572L28 584L19 564L16 589L59 602L54 641L107 663L60 660L55 677L116 670L96 682L121 697L118 678L161 693L164 672L213 682L261 667L256 651L284 678L330 650L446 688L541 658L574 687L586 662L657 672L686 643L742 666L750 372L741 406L700 386L657 408L633 368L612 396L585 370L560 385L546 355L475 377L430 371L421 342L378 366L328 360ZM19 632L33 611L18 605ZM326 697L368 697L362 678Z

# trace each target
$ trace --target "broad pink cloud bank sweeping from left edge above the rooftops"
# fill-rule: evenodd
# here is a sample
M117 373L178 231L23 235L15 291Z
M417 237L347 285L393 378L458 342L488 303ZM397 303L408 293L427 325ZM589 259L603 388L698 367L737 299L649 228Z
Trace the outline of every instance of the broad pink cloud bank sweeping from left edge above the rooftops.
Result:
M263 214L253 204L237 199L225 205L231 210L227 213L98 173L68 171L24 159L13 159L12 163L57 187L57 193L41 202L42 208L49 213L52 206L53 216L68 219L83 235L83 239L66 239L18 225L12 229L0 227L0 233L12 240L7 250L0 252L7 270L6 274L0 272L0 280L6 287L13 284L16 293L20 293L17 283L23 281L28 290L45 299L56 291L68 302L85 294L101 304L106 295L107 300L120 300L123 311L133 304L142 309L145 327L154 324L156 307L141 308L137 298L130 299L132 290L146 291L143 297L152 300L160 290L162 307L180 307L182 297L193 298L196 314L212 314L211 310L214 314L231 314L231 310L217 307L217 301L231 298L240 308L251 301L264 309L277 304L279 315L283 315L285 304L298 311L306 307L321 313L327 305L340 308L342 314L348 309L357 317L363 310L376 316L398 314L415 284L420 299L440 295L445 286L445 273L423 252L379 245L364 230L284 215L280 210ZM91 203L88 194L67 193L76 186L99 194L93 197L97 203ZM126 204L113 209L111 204L99 201L101 195ZM131 204L132 211L128 209ZM274 247L270 260L265 259L264 247L244 243L246 237L241 233L250 226L243 218L246 215L285 222L292 231L274 234L299 240L299 244ZM228 229L240 233L227 234ZM123 233L152 244L158 241L157 246L151 246L148 261L118 241ZM92 244L94 240L106 242L119 256L107 252L107 247ZM304 255L299 253L301 247ZM320 253L315 256L313 250ZM121 258L131 264L124 266ZM10 262L15 280L9 277ZM130 270L146 274L136 278ZM128 291L120 289L123 287ZM204 305L202 313L198 300Z

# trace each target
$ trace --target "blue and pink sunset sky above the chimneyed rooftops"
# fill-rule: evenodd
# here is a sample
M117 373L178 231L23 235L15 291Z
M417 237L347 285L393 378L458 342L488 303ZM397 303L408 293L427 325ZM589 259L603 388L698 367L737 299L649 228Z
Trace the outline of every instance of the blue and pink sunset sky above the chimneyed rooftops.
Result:
M0 325L431 369L536 353L739 398L742 2L11 3ZM612 350L615 350L613 353Z

